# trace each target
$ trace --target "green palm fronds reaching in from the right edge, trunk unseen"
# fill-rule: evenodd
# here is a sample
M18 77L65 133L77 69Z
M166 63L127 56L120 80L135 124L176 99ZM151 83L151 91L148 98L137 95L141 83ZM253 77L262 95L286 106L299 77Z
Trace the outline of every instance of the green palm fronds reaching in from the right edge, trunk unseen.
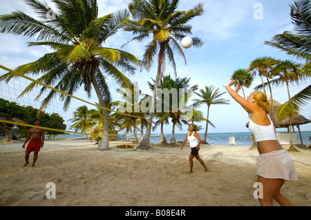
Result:
M310 77L311 70L311 3L310 0L294 1L290 5L290 17L294 23L294 31L285 31L283 34L276 34L272 41L265 41L265 44L274 48L279 48L289 55L293 55L297 59L305 60L302 68L303 74ZM311 84L294 95L290 101L283 103L281 110L278 112L280 117L282 114L290 114L296 112L299 106L303 106L311 100Z

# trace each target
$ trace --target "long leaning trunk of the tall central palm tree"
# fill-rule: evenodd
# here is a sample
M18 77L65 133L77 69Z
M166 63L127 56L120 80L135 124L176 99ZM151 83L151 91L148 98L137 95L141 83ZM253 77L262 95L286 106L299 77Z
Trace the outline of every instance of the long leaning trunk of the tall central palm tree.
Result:
M158 57L158 72L157 72L156 81L154 82L154 87L153 87L153 95L152 95L151 106L149 110L147 130L146 130L146 133L144 134L144 139L142 139L142 141L140 142L138 146L138 148L140 148L141 150L149 150L151 148L150 134L151 134L151 128L152 128L152 123L153 123L154 110L156 106L156 94L158 90L158 84L162 77L162 73L164 72L164 66L165 66L164 58L165 58L164 44L160 43L160 52L159 52L159 57Z

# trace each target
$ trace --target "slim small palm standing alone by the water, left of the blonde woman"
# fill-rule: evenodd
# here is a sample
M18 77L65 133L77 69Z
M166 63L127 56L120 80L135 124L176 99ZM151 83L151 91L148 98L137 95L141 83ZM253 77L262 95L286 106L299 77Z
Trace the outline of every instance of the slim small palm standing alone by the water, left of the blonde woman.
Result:
M200 89L198 92L195 92L199 99L195 99L196 103L202 104L205 103L207 105L207 117L206 117L206 126L205 126L205 134L202 139L202 142L207 143L207 130L208 126L210 124L209 122L209 108L211 105L228 105L229 100L226 99L220 99L220 97L225 94L225 92L220 93L219 88L215 90L214 86L205 86L205 90ZM214 127L214 126L213 126Z

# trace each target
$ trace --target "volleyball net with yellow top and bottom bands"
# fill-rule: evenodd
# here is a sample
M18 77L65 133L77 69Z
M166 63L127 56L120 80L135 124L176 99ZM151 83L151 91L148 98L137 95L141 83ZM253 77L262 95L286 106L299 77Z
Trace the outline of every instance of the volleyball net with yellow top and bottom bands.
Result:
M78 108L82 106L86 106L88 110L99 110L99 109L105 109L109 112L115 112L117 114L123 114L130 117L135 117L133 115L126 114L124 112L117 112L115 110L111 110L109 108L104 108L100 105L98 105L95 102L87 101L84 99L81 99L79 97L75 97L73 95L67 94L66 92L63 92L61 90L57 90L56 88L53 88L51 86L48 86L44 83L41 83L40 81L37 81L36 79L32 79L28 76L25 76L23 74L20 74L19 72L15 70L11 70L10 68L6 68L5 66L0 65L0 75L5 74L7 72L10 72L10 74L13 74L16 77L15 79L11 79L10 81L1 81L0 82L0 98L4 99L6 101L15 102L19 106L31 106L32 108L35 108L37 110L41 109L42 103L44 99L48 96L48 93L50 90L55 90L58 92L59 95L55 96L52 101L48 103L47 106L42 110L46 112L47 114L53 114L57 113L59 114L59 117L62 117L64 119L64 123L66 124L66 129L56 129L56 128L49 128L48 126L45 126L42 124L41 126L34 126L30 123L25 123L23 121L18 120L9 120L7 117L1 117L0 112L0 123L8 123L15 126L24 126L24 127L35 127L35 128L41 128L45 130L55 131L59 133L69 133L69 134L89 134L91 137L102 137L103 135L109 135L111 137L117 137L119 134L102 134L100 133L94 133L90 132L89 129L88 132L79 132L78 130L70 130L70 127L73 126L74 122L72 122L74 118L74 112L77 111ZM23 91L30 85L30 83L37 83L37 85L29 92L23 93ZM42 92L40 96L38 94L41 92L41 88L39 86L46 87L46 90ZM64 110L64 99L59 99L60 96L69 96L70 99L70 105L66 110ZM139 117L138 117L139 118ZM124 134L122 134L124 135Z

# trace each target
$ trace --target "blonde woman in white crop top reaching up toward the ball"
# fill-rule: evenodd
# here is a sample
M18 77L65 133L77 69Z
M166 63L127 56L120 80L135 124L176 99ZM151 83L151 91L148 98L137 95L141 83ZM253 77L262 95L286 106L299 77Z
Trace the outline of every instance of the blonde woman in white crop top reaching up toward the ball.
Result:
M231 88L233 84L234 80L231 80L224 87L231 97L249 113L249 131L254 134L260 154L257 181L263 184L263 198L259 199L259 202L261 206L272 206L273 199L275 199L281 206L292 206L280 190L285 180L290 181L298 177L290 155L276 139L273 123L267 115L270 110L267 95L264 92L255 91L245 100L237 93L238 85L235 86L235 90Z

